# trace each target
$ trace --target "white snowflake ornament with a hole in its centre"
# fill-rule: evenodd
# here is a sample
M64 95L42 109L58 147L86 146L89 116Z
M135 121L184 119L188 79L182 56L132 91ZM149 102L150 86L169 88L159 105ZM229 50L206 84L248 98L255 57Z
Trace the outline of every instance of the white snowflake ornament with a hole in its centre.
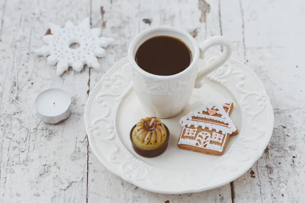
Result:
M43 41L48 46L37 49L35 53L40 56L48 56L48 64L57 63L57 76L68 70L69 66L80 72L84 65L99 70L101 68L98 58L105 56L105 50L114 40L112 38L100 37L101 29L90 29L90 20L86 18L79 25L68 21L65 27L53 23L49 24L52 35L45 35ZM73 48L71 44L78 44ZM102 48L103 47L103 48Z

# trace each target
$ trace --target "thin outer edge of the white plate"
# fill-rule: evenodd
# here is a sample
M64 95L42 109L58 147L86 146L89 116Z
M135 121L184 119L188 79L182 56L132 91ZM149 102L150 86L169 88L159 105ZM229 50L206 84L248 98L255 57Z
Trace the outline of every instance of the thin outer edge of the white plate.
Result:
M220 52L218 52L218 51L216 51L216 50L213 50L213 49L209 49L208 52L211 53L211 54L213 54L213 55L219 55L219 54L220 54ZM240 61L238 61L238 60L235 60L235 59L230 58L230 59L229 59L229 62L230 62L230 63L233 63L233 64L235 64L235 65L240 66L243 70L245 70L246 72L248 72L248 73L253 77L253 79L258 83L259 88L260 88L260 92L261 92L261 93L264 92L265 95L268 97L268 100L266 101L266 105L265 105L265 106L266 106L266 110L267 110L267 112L268 112L268 120L270 121L270 123L268 124L268 129L266 130L266 133L265 133L265 135L264 135L265 137L267 137L268 142L266 142L266 143L260 143L261 152L259 153L259 155L253 157L253 158L252 158L252 161L247 165L247 167L244 166L244 167L243 167L244 170L240 170L240 171L242 171L242 173L240 173L238 176L234 176L234 177L232 177L232 178L229 178L227 181L224 181L224 182L221 182L221 183L219 183L219 184L215 184L215 185L209 186L209 187L204 187L204 186L203 186L203 187L201 187L201 188L190 189L190 190L180 190L180 191L174 191L174 192L173 192L173 191L160 191L160 190L158 190L158 189L153 189L153 188L149 188L149 187L146 187L146 186L144 186L144 185L141 185L140 182L133 181L132 179L126 179L126 178L123 176L123 174L120 174L120 173L119 173L119 170L117 170L117 169L114 170L115 168L113 168L112 165L108 164L108 163L107 163L108 161L103 160L103 158L100 157L100 152L98 152L98 150L95 148L96 145L95 145L95 141L93 141L94 139L92 138L93 135L91 135L91 133L90 133L89 130L88 130L88 126L89 126L89 117L87 116L87 114L88 114L87 112L88 112L88 110L89 110L89 103L90 103L90 101L91 101L91 100L93 99L93 97L94 97L94 96L93 96L93 95L94 95L94 92L97 91L98 86L99 86L100 83L102 83L104 77L110 75L110 74L113 72L113 70L115 70L115 67L118 67L118 66L120 66L120 65L123 65L123 64L125 64L127 61L128 61L128 58L127 58L127 57L125 57L125 58L119 60L118 62L116 62L116 63L111 67L111 69L110 69L106 74L104 74L104 76L103 76L103 77L101 78L101 80L96 84L96 86L93 88L93 90L90 91L90 92L92 92L92 93L89 94L89 96L88 96L88 99L87 99L87 102L86 102L86 106L85 106L85 110L84 110L84 122L85 122L85 126L86 126L86 133L87 133L87 137L88 137L88 142L89 142L90 148L91 148L91 150L93 151L93 153L96 155L96 157L98 158L98 160L104 165L104 167L107 168L108 171L110 171L111 173L115 174L116 176L118 176L118 177L124 179L125 181L127 181L127 182L129 182L129 183L132 183L132 184L134 184L134 185L136 185L136 186L138 186L138 187L140 187L140 188L142 188L142 189L145 189L145 190L151 191L151 192L165 193L165 194L179 194L179 193L201 192L201 191L204 191L204 190L209 190L209 189L214 189L214 188L217 188L217 187L221 187L221 186L226 185L226 184L230 183L231 181L233 181L233 180L239 178L240 176L242 176L243 174L245 174L245 173L249 170L249 168L251 168L252 165L261 157L261 155L262 155L264 149L267 147L267 145L268 145L268 143L269 143L269 141L270 141L270 138L271 138L271 136L272 136L273 125L274 125L274 114L273 114L273 109L272 109L272 106L271 106L271 104L270 104L269 97L267 96L265 87L264 87L262 81L259 79L259 77L255 74L255 72L252 71L252 70L250 69L250 67L247 66L246 64L244 64L244 63L242 63L242 62L240 62ZM210 80L212 80L212 81L217 81L217 79L214 79L214 78L212 78L212 77L210 77L210 76L208 76L208 78L209 78ZM222 83L221 81L218 81L218 82ZM228 88L230 91L232 91L232 89L230 89L230 87L227 86L226 88ZM128 88L127 88L127 89L128 89ZM129 90L127 90L127 92L129 92ZM233 93L234 93L234 92L233 92ZM124 95L123 95L123 96L124 96ZM117 103L117 104L118 104L118 103ZM116 109L114 110L114 112L115 112L115 111L116 111ZM114 113L114 112L113 112L113 113Z

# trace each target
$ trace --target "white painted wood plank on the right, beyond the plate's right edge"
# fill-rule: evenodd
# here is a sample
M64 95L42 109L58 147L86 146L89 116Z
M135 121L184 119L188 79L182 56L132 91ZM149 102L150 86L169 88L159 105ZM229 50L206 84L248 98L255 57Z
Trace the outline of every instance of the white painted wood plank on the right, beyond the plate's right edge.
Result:
M223 33L235 35L236 41L240 42L244 32L245 60L266 86L275 111L271 141L254 166L234 181L234 201L303 202L302 67L305 64L302 55L305 30L299 24L303 22L301 16L305 4L302 1L240 1L241 8L235 1L232 8L227 4L221 2L222 16L237 8L241 9L238 13L243 16L243 21L228 22L224 16ZM240 30L242 23L244 29ZM241 52L242 47L238 50Z

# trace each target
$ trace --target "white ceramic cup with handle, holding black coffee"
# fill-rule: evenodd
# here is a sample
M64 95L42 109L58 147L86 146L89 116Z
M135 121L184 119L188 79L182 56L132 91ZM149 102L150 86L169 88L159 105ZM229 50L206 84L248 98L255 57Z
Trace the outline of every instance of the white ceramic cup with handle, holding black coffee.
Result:
M156 36L170 36L184 42L192 54L189 67L170 76L154 75L142 70L135 61L135 54L143 42ZM215 45L225 46L223 53L205 67L200 67L201 71L198 72L199 58L204 59L205 51ZM231 42L223 36L210 37L199 46L188 32L176 27L156 26L142 31L132 40L128 50L133 86L140 103L151 116L170 118L178 115L187 106L193 88L200 88L202 79L224 64L231 53Z

